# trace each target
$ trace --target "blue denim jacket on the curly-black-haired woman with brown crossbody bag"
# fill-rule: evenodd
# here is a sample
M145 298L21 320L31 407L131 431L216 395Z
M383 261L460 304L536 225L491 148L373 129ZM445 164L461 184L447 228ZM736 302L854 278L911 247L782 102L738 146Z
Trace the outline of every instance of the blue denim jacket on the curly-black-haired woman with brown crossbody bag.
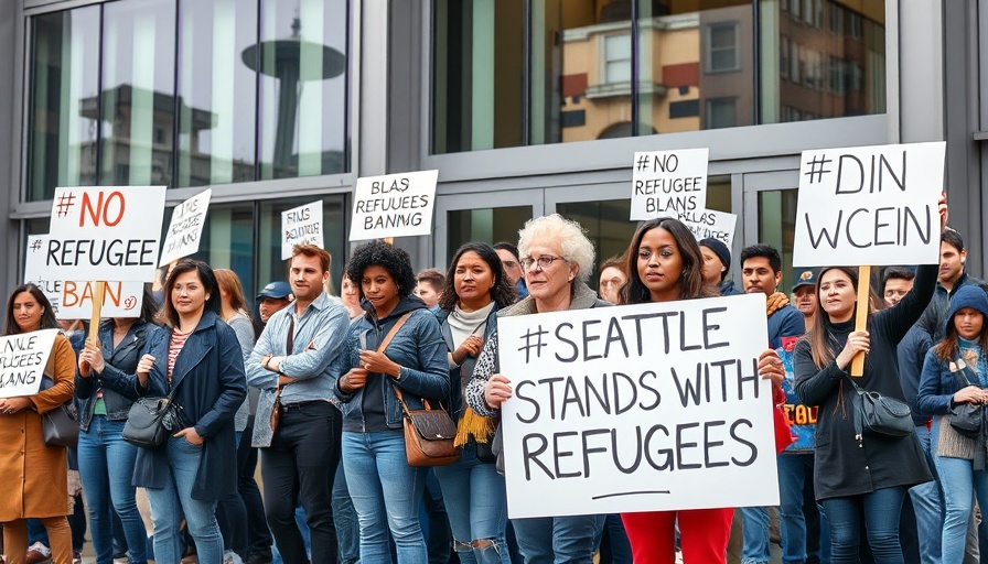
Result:
M384 395L386 423L388 429L393 430L401 429L404 417L401 404L395 394L395 386L401 388L405 403L411 410L422 409L421 398L439 402L445 401L449 395L450 371L445 341L440 334L436 316L417 297L402 299L383 319L377 319L373 312L355 319L346 343L348 351L348 355L344 355L346 366L342 367L340 373L346 373L351 368L359 366L362 348L377 350L388 330L408 312L412 312L411 317L398 329L385 351L389 359L404 368L401 378L397 380L390 376L377 378L376 389L370 389L375 380L368 378L367 386L353 393L341 390L340 380L336 380L334 386L336 398L346 404L343 410L343 431L362 433L366 429L362 410L365 393Z

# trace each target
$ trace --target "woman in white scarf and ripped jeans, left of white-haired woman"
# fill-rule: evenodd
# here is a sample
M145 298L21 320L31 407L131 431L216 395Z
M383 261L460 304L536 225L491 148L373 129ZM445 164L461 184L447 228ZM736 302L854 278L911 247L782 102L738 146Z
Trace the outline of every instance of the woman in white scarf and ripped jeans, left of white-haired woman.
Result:
M449 350L450 397L447 405L457 422L460 460L436 468L453 531L453 550L468 564L508 564L504 529L507 498L504 476L492 464L491 440L496 417L470 409L464 394L476 357L494 330L497 311L515 303L516 291L493 247L469 242L453 254L436 314Z

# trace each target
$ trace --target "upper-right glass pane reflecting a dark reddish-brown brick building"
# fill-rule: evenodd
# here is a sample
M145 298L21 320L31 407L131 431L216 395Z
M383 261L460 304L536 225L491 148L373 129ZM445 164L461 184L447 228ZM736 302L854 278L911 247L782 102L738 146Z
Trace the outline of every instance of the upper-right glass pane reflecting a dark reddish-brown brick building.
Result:
M763 123L883 113L885 2L760 0Z

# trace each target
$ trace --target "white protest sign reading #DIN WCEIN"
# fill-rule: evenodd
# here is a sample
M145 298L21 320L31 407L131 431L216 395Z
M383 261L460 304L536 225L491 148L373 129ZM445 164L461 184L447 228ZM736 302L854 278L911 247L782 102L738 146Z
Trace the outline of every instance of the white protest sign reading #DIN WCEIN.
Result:
M945 148L934 142L804 151L793 265L936 262Z

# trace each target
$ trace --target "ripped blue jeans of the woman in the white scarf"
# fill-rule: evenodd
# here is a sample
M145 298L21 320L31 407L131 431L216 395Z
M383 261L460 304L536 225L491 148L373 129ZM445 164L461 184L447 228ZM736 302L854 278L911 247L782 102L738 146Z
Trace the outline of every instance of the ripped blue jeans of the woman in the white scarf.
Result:
M507 494L504 476L493 464L476 459L476 446L463 447L454 464L437 466L445 510L453 530L453 550L462 564L511 564L504 529ZM471 546L482 541L485 546Z

